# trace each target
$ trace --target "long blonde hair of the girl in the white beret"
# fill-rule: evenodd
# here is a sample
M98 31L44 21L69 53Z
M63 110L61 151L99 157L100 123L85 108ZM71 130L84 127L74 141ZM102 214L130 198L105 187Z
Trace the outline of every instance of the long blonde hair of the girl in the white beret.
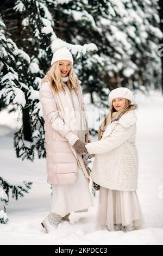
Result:
M134 110L137 108L136 104L131 104L131 101L128 99L125 99L125 105L124 107L118 111L116 118L120 117L120 115L123 115L125 113L127 113L128 111ZM116 109L114 108L114 106L111 103L110 109L108 114L105 116L104 121L102 122L102 124L99 126L99 130L98 130L98 140L100 140L102 138L102 135L106 129L106 127L108 126L108 124L110 123L110 121L112 121L112 113L117 112Z

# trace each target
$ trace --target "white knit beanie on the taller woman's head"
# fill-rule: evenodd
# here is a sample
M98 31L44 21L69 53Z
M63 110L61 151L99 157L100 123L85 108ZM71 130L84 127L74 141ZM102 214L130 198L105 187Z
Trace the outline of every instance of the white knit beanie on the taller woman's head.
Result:
M54 62L57 62L58 60L70 60L73 65L72 54L67 47L61 47L53 53L51 65L53 65Z

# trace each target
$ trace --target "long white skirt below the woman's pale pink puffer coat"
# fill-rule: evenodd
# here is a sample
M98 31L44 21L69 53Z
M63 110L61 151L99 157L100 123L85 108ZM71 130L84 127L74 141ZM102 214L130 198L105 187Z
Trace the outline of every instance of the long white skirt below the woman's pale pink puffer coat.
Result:
M69 212L82 211L93 206L89 184L79 168L74 184L52 186L51 212L65 216Z

